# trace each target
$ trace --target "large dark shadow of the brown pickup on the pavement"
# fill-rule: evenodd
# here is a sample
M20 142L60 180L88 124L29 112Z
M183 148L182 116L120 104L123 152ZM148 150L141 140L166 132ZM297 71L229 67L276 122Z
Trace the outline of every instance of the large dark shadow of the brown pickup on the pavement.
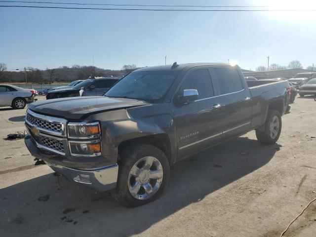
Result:
M173 166L164 195L137 208L43 175L0 190L0 229L3 236L136 235L264 166L279 148L246 137L210 148Z

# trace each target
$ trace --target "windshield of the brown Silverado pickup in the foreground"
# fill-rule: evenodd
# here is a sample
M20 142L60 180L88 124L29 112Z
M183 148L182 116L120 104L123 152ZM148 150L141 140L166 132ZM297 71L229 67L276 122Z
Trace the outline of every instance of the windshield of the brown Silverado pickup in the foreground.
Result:
M135 72L116 83L105 94L108 97L122 97L157 102L168 91L176 72Z

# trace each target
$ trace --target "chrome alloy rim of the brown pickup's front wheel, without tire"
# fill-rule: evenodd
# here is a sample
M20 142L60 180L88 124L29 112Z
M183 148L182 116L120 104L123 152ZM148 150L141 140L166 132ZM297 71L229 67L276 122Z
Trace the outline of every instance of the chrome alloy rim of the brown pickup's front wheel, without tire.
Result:
M162 183L163 170L155 157L143 157L131 168L128 175L128 190L139 200L153 197Z

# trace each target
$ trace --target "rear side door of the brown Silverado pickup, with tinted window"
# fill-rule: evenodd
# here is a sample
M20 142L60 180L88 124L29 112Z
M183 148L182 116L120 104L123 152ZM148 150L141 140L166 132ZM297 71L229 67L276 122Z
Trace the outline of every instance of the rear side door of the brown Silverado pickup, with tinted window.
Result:
M211 67L211 76L219 88L223 112L223 137L236 136L250 129L252 101L250 91L236 67Z

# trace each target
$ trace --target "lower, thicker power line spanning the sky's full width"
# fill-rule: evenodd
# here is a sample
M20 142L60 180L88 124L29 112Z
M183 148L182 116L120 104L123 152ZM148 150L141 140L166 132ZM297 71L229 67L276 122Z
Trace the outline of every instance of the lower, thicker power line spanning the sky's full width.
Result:
M19 5L0 5L0 7L24 7L24 8L52 8L52 9L75 9L75 10L118 10L118 11L316 11L316 9L150 9L150 8L93 8L93 7L61 7L61 6L19 6Z

